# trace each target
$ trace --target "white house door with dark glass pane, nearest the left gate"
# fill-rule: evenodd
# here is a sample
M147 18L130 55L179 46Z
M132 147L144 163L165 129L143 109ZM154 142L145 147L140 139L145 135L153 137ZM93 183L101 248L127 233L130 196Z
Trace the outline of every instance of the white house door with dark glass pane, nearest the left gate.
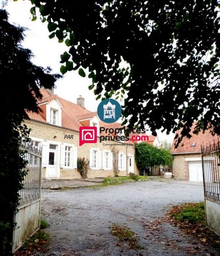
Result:
M57 145L49 145L49 157L47 166L47 178L58 178L58 166L57 166Z

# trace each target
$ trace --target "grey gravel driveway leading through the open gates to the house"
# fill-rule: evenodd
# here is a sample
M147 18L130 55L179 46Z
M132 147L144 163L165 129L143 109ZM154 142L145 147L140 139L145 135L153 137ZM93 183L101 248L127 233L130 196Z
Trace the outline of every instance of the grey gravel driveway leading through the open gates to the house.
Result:
M158 222L172 205L202 201L203 193L200 184L165 180L43 190L41 211L52 239L48 252L38 255L220 255L170 223ZM137 233L143 249L119 246L110 233L113 223Z

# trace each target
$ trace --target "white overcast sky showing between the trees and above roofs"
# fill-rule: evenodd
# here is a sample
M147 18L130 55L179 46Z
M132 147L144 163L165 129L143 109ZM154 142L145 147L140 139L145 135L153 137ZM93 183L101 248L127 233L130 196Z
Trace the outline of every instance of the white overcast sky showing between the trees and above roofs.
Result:
M31 21L31 7L30 1L14 2L9 0L5 9L10 15L9 21L11 23L27 28L26 38L22 45L30 49L35 55L32 62L45 68L49 66L53 73L60 73L62 65L60 55L64 51L68 51L68 48L65 43L58 43L57 38L49 39L46 22L42 23L39 18L36 21ZM100 101L96 101L94 92L88 89L91 84L91 79L88 77L81 77L78 71L70 71L56 82L54 93L73 103L77 103L77 98L82 95L85 99L85 107L90 111L97 111ZM174 134L166 135L158 132L158 137L160 141L172 142Z

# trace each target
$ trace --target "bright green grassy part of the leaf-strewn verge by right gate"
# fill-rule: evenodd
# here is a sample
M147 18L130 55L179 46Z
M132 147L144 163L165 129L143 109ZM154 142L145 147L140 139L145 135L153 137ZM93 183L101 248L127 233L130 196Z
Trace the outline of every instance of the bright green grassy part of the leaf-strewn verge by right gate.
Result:
M185 205L179 213L173 214L178 221L187 220L189 223L205 223L205 206L204 203Z

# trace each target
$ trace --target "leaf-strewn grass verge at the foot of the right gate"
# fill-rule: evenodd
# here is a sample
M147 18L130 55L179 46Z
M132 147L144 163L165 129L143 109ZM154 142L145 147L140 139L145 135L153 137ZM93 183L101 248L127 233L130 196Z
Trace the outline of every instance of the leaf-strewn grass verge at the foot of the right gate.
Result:
M176 205L170 211L170 221L201 243L220 249L220 237L206 227L204 203Z

